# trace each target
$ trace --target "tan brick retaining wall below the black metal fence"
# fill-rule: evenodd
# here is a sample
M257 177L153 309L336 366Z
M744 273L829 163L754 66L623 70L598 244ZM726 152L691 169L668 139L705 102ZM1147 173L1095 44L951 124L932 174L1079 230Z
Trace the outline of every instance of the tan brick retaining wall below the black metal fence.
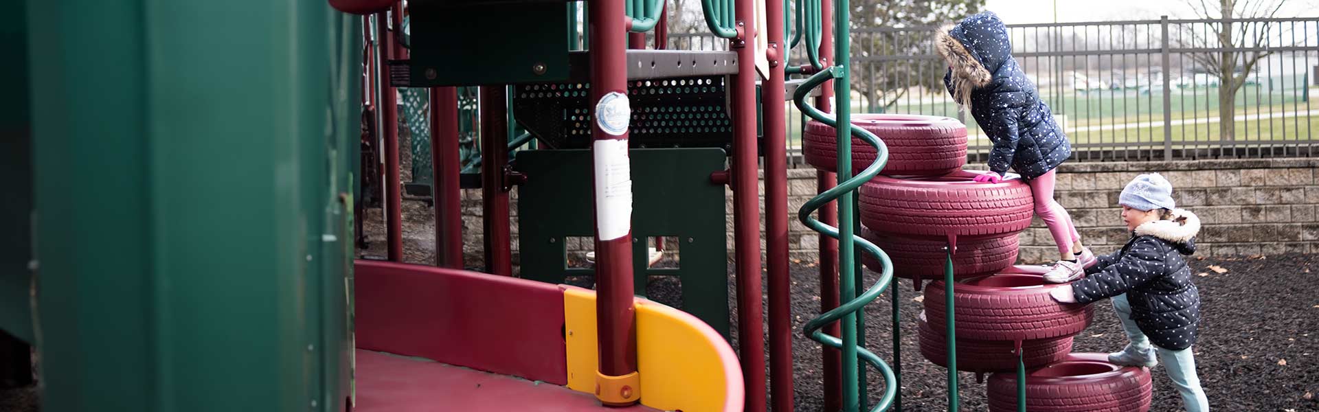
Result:
M983 168L968 165L968 169L977 166ZM1096 252L1109 252L1129 236L1120 217L1121 206L1117 206L1122 186L1140 173L1158 172L1173 182L1178 205L1196 213L1204 223L1198 239L1199 254L1308 254L1319 252L1316 168L1319 158L1068 162L1059 168L1055 198L1071 213L1084 242ZM815 194L815 170L789 169L787 186L789 250L791 258L813 261L819 247L818 235L797 222L795 215ZM760 190L764 195L764 184ZM725 193L731 256L732 190ZM471 264L474 259L480 260L480 191L464 190L463 197L464 250ZM513 198L516 203L516 190ZM516 205L512 214L517 215ZM513 235L517 236L516 222ZM513 243L516 255L516 239ZM761 243L764 251L764 240ZM1021 246L1022 263L1057 259L1053 238L1039 219L1021 234Z

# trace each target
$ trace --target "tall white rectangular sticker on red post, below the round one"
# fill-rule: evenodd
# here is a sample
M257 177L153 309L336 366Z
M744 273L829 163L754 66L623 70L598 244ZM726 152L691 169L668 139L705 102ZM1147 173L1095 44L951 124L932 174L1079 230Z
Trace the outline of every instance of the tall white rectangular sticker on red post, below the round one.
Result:
M595 224L600 240L613 240L632 231L632 166L627 140L596 140Z

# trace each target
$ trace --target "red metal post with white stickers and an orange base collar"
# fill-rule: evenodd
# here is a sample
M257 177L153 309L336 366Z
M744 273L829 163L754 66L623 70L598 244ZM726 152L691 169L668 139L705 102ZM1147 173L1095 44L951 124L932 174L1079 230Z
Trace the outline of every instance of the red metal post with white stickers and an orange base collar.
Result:
M623 1L590 0L591 191L595 205L595 279L600 364L596 394L607 405L641 399L636 313L632 304L632 170L628 158L625 13Z

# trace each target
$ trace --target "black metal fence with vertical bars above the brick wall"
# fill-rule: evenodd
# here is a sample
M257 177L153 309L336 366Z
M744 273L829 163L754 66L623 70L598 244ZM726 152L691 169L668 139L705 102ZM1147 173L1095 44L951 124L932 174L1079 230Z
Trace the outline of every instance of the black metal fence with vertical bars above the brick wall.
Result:
M857 112L962 119L969 152L991 143L943 88L936 26L852 30ZM1074 158L1175 160L1314 156L1311 107L1319 18L1103 21L1009 25L1013 55L1072 141ZM670 34L671 49L723 49ZM801 48L793 63L805 61ZM1231 104L1225 104L1231 102ZM790 153L799 121L789 111Z

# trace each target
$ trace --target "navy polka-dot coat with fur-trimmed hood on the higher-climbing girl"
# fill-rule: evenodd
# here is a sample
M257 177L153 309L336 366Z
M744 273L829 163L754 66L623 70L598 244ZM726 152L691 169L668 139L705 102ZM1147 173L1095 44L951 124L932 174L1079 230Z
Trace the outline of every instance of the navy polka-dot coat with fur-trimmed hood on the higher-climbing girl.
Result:
M971 115L993 141L989 170L1004 174L1010 166L1031 180L1071 156L1063 129L1012 58L1008 28L998 16L983 12L946 26L935 46L951 65L943 78L948 92L971 107Z

